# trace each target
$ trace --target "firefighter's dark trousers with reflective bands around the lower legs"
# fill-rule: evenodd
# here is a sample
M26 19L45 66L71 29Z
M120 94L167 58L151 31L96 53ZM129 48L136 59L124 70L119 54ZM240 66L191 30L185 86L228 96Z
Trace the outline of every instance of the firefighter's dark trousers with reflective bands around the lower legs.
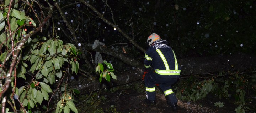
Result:
M157 73L154 73L154 71L146 73L144 83L147 99L150 101L156 100L155 84L159 84L159 87L165 94L167 103L169 105L177 103L177 97L171 87L171 85L178 80L178 76L173 78L174 76L175 75L158 75Z

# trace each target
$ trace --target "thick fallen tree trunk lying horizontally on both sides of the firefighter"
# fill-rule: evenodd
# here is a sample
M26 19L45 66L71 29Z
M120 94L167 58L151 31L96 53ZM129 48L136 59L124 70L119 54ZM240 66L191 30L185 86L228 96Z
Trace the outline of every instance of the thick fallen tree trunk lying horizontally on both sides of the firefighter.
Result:
M136 62L136 61L135 61ZM178 59L181 66L181 78L188 75L199 75L221 71L245 71L256 67L256 56L247 54L216 55L210 57L194 57ZM131 63L132 64L132 63ZM141 65L143 65L141 63ZM123 85L141 79L143 69L134 69L121 73L115 73L117 80L111 82L98 81L98 79L74 79L69 82L70 87L77 88L81 93L100 90L102 88Z

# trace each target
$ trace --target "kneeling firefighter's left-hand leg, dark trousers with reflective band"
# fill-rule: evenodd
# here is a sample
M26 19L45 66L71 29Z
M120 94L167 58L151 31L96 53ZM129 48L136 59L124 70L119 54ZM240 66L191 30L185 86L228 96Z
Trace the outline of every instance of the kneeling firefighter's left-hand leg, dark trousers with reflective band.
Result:
M146 88L146 97L149 101L156 100L156 93L155 93L155 82L153 75L150 74L151 72L146 73L144 78L145 88Z

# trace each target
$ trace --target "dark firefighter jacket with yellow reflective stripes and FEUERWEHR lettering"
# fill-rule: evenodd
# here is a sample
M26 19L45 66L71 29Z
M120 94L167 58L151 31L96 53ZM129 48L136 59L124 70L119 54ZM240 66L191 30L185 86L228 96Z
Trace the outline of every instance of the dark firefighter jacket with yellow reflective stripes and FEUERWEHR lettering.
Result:
M180 67L174 51L167 45L168 41L160 40L150 46L145 54L144 66L153 67L154 73L172 78L178 78Z

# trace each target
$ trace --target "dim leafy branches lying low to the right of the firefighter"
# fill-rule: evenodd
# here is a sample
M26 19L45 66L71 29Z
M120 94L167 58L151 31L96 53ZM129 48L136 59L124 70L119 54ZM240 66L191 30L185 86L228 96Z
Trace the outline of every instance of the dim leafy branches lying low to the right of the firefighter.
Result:
M224 77L218 77L224 76ZM205 98L209 93L218 95L219 98L232 99L234 98L239 104L235 111L237 113L245 113L246 110L250 110L249 104L246 103L245 97L246 91L251 94L256 94L255 84L256 76L248 76L239 72L221 72L216 78L204 79L198 81L194 77L190 77L187 80L181 81L182 85L178 90L178 97L181 100L200 100ZM254 95L255 96L255 95ZM216 103L215 106L222 107L223 103Z

